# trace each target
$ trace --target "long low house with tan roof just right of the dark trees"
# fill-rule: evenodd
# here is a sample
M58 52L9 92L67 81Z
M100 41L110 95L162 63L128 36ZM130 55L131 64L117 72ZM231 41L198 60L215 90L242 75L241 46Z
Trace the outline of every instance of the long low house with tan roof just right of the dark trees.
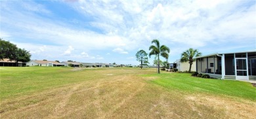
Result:
M64 66L63 64L58 63L56 61L43 61L43 60L32 60L32 61L29 61L26 65L45 66L45 67L62 67L62 66Z

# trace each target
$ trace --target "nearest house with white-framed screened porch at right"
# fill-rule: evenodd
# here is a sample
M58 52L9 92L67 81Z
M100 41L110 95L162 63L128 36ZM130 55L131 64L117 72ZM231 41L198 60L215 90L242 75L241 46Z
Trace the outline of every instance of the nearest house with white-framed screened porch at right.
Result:
M197 57L196 71L213 78L256 80L256 50Z

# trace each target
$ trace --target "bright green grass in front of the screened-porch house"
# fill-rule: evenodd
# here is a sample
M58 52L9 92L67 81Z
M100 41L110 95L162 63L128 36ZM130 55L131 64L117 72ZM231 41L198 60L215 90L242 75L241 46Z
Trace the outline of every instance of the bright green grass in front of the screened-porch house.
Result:
M151 74L143 76L157 76L157 80L151 80L151 82L169 90L229 95L256 101L256 88L249 82L198 78L190 75L189 73L161 73L160 75Z

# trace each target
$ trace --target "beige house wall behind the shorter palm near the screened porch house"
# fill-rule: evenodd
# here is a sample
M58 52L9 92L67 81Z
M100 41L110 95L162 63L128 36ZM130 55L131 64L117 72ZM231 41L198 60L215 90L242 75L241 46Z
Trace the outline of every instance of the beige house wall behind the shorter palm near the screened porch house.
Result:
M175 61L175 64L178 71L188 71L190 67L190 63L188 63L188 61L181 62L181 60L177 60ZM191 71L196 71L196 62L193 62L193 64L191 65Z

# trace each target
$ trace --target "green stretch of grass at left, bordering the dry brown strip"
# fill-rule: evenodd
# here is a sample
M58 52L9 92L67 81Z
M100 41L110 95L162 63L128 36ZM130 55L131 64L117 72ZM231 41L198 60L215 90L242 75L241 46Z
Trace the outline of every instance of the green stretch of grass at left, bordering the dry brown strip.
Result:
M84 81L79 71L71 67L1 67L0 97L14 98L33 92ZM99 70L99 69L97 69ZM93 79L87 76L87 80ZM97 75L93 76L98 77Z

